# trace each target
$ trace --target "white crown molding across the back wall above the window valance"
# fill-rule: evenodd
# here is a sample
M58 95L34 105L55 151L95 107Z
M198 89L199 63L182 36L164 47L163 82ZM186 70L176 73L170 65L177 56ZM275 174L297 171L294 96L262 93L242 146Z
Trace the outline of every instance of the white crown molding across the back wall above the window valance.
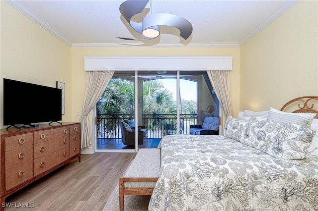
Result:
M152 48L211 48L211 47L219 47L219 48L238 48L238 43L189 43L187 45L183 45L181 43L158 43L155 45L134 43L134 44L112 44L112 43L74 43L72 48L134 48L134 47L152 47Z

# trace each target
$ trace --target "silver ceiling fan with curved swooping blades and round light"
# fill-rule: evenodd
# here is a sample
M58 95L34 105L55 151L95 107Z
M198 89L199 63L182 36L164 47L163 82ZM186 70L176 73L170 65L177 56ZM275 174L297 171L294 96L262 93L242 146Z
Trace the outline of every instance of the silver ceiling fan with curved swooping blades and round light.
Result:
M145 38L143 39L132 39L132 38L123 38L117 37L123 40L152 40L157 38L160 35L160 26L172 26L180 31L180 36L183 39L188 39L192 33L191 23L183 17L169 14L169 13L155 13L147 15L143 18L141 23L132 21L132 17L136 14L141 13L148 2L150 3L150 11L152 11L152 0L126 0L120 7L119 11L125 18L125 20L130 24L130 26L142 34Z

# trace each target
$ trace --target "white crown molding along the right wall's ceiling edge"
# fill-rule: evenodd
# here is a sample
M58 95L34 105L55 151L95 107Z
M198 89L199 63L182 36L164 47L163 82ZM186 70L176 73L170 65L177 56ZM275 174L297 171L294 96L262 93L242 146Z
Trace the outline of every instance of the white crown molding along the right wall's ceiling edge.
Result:
M286 0L284 3L282 3L282 5L279 8L277 8L271 15L269 15L268 18L266 18L266 20L261 25L259 25L253 31L251 31L243 39L241 39L239 41L239 46L244 45L252 37L254 37L256 34L258 34L258 32L263 30L266 26L268 26L271 22L273 22L276 18L278 18L280 15L282 15L285 11L287 11L290 7L292 7L298 1L299 0Z

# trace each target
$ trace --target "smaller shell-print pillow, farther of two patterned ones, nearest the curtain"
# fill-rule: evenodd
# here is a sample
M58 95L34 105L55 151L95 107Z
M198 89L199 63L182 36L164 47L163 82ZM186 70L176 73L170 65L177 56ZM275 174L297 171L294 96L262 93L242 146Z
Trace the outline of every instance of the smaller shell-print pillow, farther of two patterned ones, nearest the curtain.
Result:
M225 137L240 141L241 137L244 135L244 130L247 123L247 119L238 119L233 116L228 116L225 122L223 135Z

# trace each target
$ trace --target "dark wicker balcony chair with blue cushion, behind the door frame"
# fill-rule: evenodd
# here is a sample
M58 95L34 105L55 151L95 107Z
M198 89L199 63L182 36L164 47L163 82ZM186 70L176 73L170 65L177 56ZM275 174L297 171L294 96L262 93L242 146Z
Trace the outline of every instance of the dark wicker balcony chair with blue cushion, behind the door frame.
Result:
M119 121L119 126L121 129L122 139L121 142L124 145L135 145L135 130L129 126L128 123ZM138 145L144 144L144 131L138 130Z

